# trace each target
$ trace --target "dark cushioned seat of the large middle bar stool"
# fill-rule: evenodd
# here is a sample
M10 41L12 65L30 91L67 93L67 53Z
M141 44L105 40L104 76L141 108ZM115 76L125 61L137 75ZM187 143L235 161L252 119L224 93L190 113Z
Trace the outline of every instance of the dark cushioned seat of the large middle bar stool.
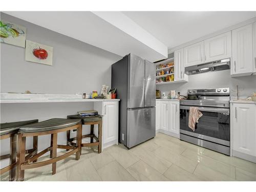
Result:
M41 121L38 123L33 123L25 126L20 126L20 133L30 133L30 132L44 132L50 130L57 130L64 127L69 127L80 123L80 119L49 119L46 121Z

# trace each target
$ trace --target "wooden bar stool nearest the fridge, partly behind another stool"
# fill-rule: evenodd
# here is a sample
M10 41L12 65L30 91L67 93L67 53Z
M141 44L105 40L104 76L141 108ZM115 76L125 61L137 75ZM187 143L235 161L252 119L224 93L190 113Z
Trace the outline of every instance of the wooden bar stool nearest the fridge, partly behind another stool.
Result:
M89 116L89 117L81 117L80 115L68 115L68 119L81 119L82 124L84 125L91 125L91 132L88 135L82 135L82 138L91 138L90 143L81 143L82 146L98 146L98 153L101 153L101 144L102 144L102 116ZM93 133L94 125L98 124L98 137L96 137ZM96 141L93 142L93 139ZM70 131L67 132L67 143L74 145L74 141L77 141L77 138L70 138Z

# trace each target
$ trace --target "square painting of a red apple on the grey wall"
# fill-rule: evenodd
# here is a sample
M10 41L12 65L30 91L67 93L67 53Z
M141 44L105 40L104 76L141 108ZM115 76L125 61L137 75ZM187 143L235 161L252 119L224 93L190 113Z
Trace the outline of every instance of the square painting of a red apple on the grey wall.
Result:
M26 40L25 60L52 66L53 48Z

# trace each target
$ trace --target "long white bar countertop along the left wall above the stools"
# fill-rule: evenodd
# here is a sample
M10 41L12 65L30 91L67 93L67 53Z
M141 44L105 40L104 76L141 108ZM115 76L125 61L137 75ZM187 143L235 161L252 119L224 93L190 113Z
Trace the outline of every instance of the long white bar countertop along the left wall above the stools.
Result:
M103 102L120 99L83 99L82 95L1 93L0 103Z

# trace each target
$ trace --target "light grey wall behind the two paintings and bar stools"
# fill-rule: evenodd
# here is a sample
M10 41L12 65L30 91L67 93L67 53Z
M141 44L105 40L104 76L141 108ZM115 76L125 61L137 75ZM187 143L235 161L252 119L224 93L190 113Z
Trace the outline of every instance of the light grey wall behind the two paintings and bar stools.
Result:
M100 92L102 84L111 86L111 65L120 56L61 35L24 20L1 13L1 19L27 28L27 39L53 47L53 66L25 61L25 49L1 43L1 93L24 92L75 94ZM70 30L77 30L67 24ZM67 118L77 111L93 109L93 103L1 104L1 123L51 118ZM89 129L88 129L89 131ZM27 148L32 146L27 139ZM66 143L66 133L58 134L58 143ZM50 136L40 136L39 151L48 147ZM1 155L9 153L9 139L1 141ZM1 161L1 168L9 160Z

